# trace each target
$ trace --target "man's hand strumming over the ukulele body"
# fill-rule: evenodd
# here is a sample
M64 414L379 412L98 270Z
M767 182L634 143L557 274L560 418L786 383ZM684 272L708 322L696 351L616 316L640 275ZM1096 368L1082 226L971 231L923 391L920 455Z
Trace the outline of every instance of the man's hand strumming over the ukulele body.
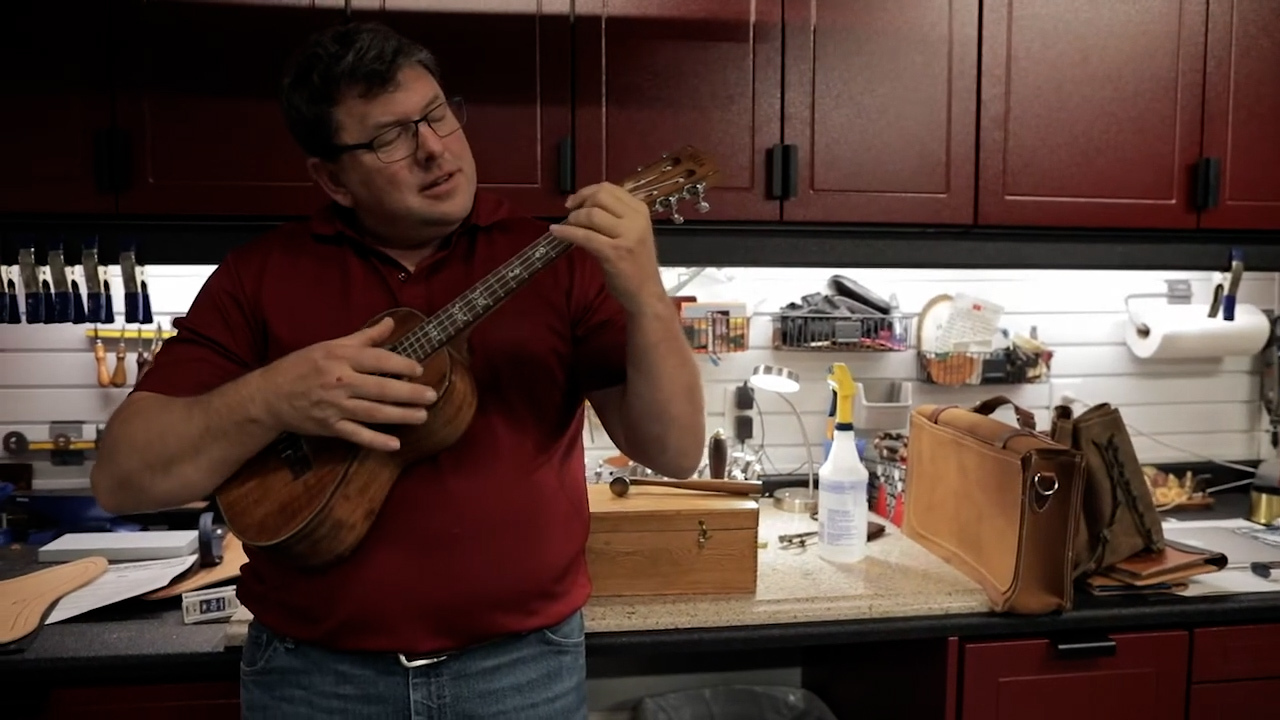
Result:
M399 439L365 425L426 421L435 391L399 378L416 378L422 366L376 347L390 337L394 322L303 347L260 370L262 416L282 430L333 436L381 451L399 450ZM378 377L393 375L393 377Z

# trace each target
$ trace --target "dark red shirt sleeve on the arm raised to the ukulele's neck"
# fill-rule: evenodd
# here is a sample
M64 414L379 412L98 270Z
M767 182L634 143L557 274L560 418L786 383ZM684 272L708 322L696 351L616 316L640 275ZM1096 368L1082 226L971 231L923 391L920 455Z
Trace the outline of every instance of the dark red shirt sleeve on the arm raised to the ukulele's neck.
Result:
M573 372L585 393L626 382L627 316L595 258L581 249L573 254Z

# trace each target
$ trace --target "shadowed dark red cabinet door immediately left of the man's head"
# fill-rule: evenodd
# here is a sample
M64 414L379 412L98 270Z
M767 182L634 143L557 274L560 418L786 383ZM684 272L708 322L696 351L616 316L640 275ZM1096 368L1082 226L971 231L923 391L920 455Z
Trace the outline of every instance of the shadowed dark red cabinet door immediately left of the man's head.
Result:
M119 5L116 113L132 158L120 213L293 215L326 199L284 126L279 86L288 56L339 10Z

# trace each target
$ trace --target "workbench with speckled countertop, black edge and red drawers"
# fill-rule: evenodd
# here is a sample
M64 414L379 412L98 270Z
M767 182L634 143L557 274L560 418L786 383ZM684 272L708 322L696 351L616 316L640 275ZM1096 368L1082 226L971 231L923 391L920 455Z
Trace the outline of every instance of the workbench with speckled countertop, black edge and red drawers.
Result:
M1225 496L1219 505L1215 514L1239 516L1247 496ZM762 539L776 543L769 534L778 518L762 516ZM1271 648L1280 646L1280 593L1082 594L1064 615L997 616L984 610L977 587L919 555L896 529L870 547L861 570L824 570L815 557L792 557L795 577L781 579L769 553L783 551L771 544L762 551L764 592L756 597L593 601L585 611L589 678L797 667L804 685L837 714L947 720L980 717L982 703L1010 702L996 697L997 688L1019 679L1039 687L1037 702L1097 711L1102 720L1132 712L1134 703L1161 702L1152 693L1172 693L1164 702L1179 712L1190 708L1178 717L1207 717L1196 708L1211 701L1248 711L1270 694L1235 689L1280 684L1277 656L1248 647L1272 639ZM783 597L796 577L808 585L787 592L806 597ZM861 591L842 593L841 583L850 582L861 582ZM239 653L228 629L183 625L175 603L141 600L42 628L29 650L0 656L5 717L52 716L38 714L46 701L76 712L132 702L115 707L136 716L137 703L151 702L170 712L148 715L155 717L238 717ZM1106 697L1134 673L1155 679L1126 691L1128 701ZM24 698L26 710L18 705L10 714L13 698ZM1270 705L1257 707L1270 712Z

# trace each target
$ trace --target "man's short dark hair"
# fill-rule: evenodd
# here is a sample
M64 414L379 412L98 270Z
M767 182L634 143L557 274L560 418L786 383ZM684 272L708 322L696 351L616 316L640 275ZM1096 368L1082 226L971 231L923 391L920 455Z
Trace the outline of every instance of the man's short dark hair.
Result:
M381 23L349 23L317 32L284 73L280 104L289 135L307 155L333 159L338 131L333 109L343 94L369 97L385 92L404 65L413 63L439 82L435 56Z

